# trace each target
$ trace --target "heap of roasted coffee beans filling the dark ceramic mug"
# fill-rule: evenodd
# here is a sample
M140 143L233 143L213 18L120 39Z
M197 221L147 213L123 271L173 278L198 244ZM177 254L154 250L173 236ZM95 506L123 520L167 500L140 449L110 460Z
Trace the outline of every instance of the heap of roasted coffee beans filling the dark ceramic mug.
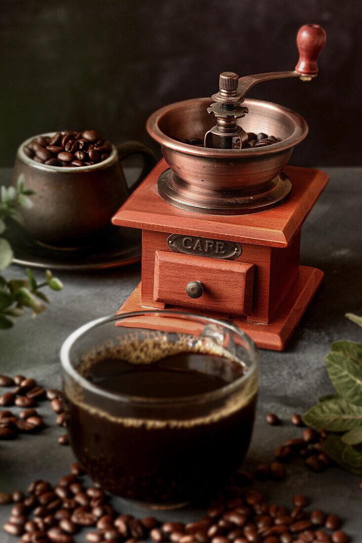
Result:
M112 144L99 137L95 130L65 130L53 137L34 138L23 147L24 153L35 162L58 167L93 165L108 159L112 149Z

